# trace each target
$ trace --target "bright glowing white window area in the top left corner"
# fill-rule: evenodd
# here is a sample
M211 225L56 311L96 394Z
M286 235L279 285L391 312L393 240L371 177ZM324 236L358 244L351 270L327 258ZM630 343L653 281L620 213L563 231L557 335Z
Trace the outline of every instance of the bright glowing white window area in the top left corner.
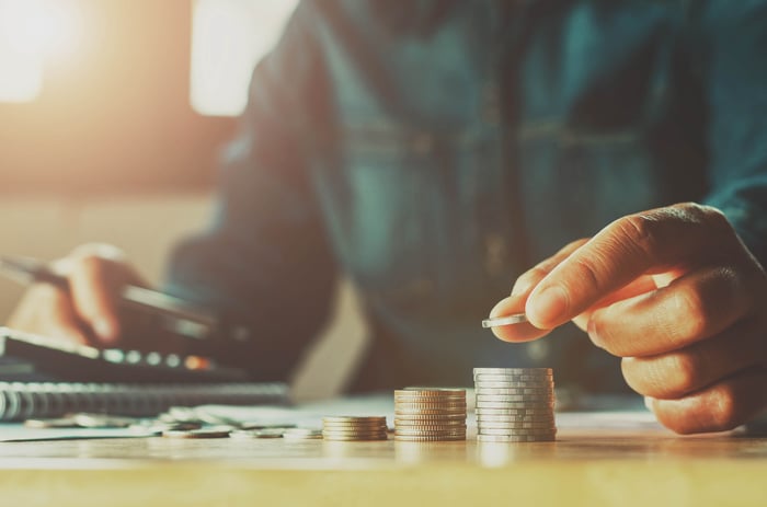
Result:
M43 89L50 57L78 46L72 0L0 0L0 102L28 102Z

